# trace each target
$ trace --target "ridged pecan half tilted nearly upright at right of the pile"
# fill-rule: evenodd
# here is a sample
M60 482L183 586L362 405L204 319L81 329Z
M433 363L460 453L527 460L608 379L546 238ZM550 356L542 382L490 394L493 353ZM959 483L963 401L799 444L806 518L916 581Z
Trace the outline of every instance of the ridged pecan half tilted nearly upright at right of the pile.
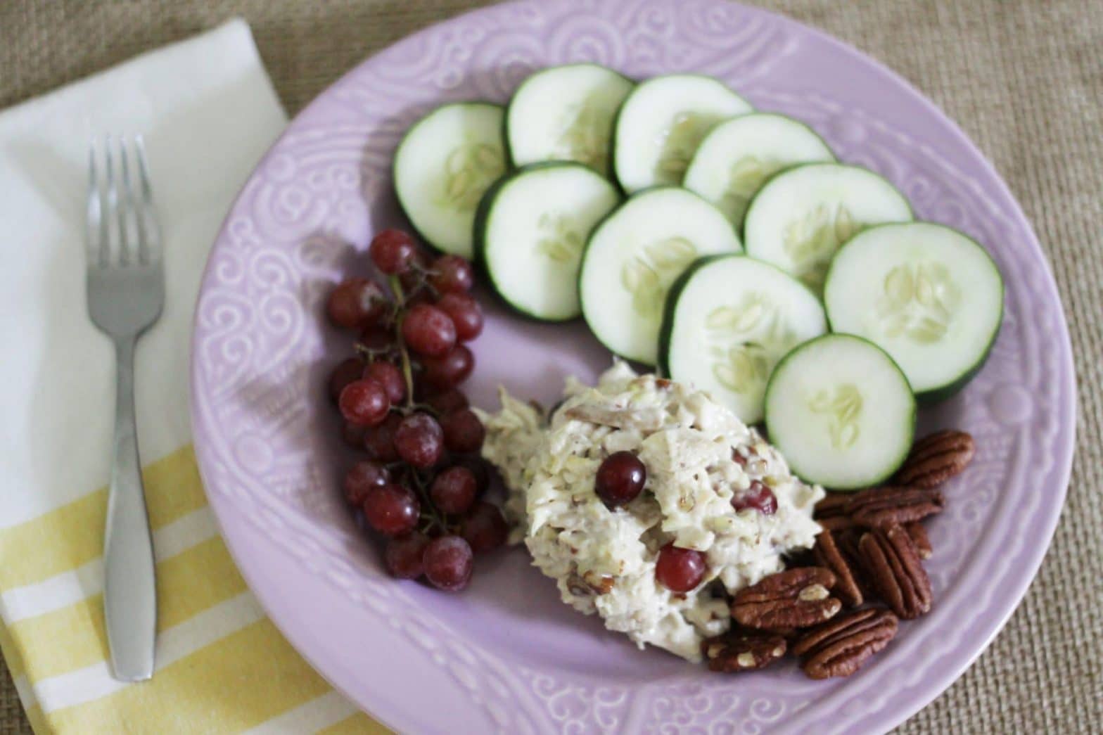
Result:
M901 526L875 529L858 542L874 589L904 620L931 609L931 580L919 551Z

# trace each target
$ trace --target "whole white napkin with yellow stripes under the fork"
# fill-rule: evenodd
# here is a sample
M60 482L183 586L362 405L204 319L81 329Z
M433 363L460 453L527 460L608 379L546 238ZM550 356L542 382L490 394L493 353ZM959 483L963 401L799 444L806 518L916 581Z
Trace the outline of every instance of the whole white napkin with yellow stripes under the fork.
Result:
M206 252L286 125L244 21L0 113L0 649L44 733L385 732L264 616L190 446L188 343ZM161 321L138 348L158 575L153 679L110 677L104 519L110 347L85 308L89 136L143 132L165 235Z

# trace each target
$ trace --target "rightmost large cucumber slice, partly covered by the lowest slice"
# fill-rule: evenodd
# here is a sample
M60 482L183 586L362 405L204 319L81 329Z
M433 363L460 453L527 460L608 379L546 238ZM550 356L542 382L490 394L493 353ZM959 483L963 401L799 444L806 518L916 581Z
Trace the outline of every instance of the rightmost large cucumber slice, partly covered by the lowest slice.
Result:
M839 249L824 289L832 329L897 361L921 401L960 390L984 364L1004 316L992 257L930 222L871 227Z

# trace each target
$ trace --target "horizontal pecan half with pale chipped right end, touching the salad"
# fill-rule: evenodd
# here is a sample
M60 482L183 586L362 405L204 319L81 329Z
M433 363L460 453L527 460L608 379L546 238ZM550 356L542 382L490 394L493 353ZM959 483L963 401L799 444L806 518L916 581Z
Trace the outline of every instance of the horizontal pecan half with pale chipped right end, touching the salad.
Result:
M831 596L835 575L817 566L785 569L745 587L731 599L731 617L748 628L806 628L833 617L843 604Z

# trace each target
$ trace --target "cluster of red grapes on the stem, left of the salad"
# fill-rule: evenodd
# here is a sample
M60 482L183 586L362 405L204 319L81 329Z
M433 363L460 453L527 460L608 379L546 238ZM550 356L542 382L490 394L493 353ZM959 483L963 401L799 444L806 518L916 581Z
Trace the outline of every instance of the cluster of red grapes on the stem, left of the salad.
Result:
M342 437L367 455L345 475L344 497L386 537L394 576L424 575L457 592L471 579L474 554L503 545L507 531L501 510L482 499L485 430L459 390L474 369L465 342L483 328L469 294L474 274L456 255L429 260L397 230L376 235L370 255L387 287L350 278L326 302L334 326L358 332L356 355L328 385Z

